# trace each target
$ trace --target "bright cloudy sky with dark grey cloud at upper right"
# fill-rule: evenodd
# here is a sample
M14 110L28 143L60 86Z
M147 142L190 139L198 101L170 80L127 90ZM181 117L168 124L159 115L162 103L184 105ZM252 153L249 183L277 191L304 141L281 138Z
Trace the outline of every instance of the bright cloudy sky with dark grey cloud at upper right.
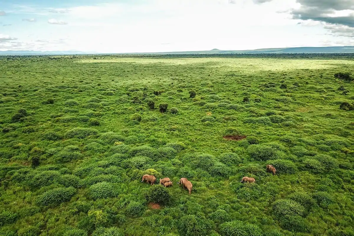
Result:
M354 0L0 0L0 50L354 45Z

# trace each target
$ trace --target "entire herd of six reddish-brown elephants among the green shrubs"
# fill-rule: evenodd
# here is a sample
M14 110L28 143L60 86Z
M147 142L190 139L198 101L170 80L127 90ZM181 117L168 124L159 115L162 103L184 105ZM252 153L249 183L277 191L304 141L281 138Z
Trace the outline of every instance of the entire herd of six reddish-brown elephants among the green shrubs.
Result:
M266 168L267 168L268 172L271 172L271 173L273 173L273 175L275 175L276 169L274 166L266 165ZM144 182L144 180L146 180L146 182L148 184L153 185L156 182L156 177L154 175L144 174L141 182ZM256 180L255 180L255 178L245 176L241 179L240 182L241 183L255 183ZM171 179L168 177L160 179L160 184L165 186L166 188L171 187L173 185ZM183 189L187 189L189 194L192 191L193 184L187 178L181 178L179 180L179 182L177 182L177 184L179 184L179 186L181 186L181 184L182 184Z

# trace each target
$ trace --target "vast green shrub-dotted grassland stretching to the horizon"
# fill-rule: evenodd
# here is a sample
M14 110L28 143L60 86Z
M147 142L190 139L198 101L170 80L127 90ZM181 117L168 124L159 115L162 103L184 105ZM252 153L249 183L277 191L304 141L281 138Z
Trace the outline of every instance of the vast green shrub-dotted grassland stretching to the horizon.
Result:
M354 235L354 61L272 57L1 57L0 235Z

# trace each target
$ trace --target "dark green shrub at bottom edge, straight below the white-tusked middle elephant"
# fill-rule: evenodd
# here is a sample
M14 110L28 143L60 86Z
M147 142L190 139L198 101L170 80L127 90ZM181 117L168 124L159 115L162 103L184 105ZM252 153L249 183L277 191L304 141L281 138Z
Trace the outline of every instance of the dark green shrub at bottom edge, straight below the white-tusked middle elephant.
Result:
M184 215L178 220L177 226L184 236L205 236L211 230L210 220L196 215Z

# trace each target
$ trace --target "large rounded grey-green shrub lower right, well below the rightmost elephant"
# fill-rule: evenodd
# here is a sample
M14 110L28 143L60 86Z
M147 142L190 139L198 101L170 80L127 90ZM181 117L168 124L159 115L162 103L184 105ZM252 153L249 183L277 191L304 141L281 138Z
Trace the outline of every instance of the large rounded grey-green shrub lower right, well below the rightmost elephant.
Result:
M286 218L290 215L303 216L305 208L291 199L279 199L274 202L273 211L276 217Z

